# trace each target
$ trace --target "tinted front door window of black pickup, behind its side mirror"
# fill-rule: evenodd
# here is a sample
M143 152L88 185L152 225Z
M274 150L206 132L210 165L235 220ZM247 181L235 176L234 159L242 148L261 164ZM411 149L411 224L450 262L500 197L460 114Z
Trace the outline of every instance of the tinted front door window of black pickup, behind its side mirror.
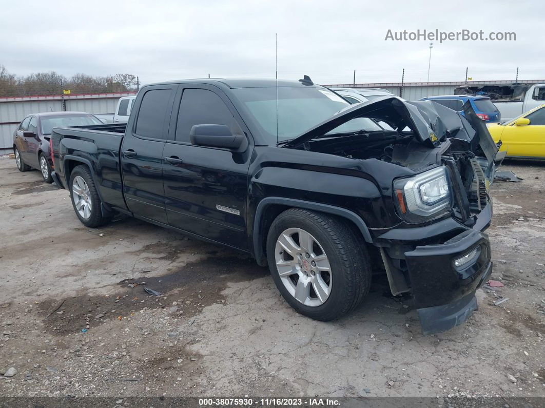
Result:
M229 108L214 92L185 89L178 111L175 140L189 143L193 125L227 125L231 130L237 126Z

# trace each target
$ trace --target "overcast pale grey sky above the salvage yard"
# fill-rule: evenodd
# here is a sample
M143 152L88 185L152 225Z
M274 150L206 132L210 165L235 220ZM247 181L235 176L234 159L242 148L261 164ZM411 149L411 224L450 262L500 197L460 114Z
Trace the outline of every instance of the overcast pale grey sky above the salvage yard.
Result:
M434 41L430 81L545 79L543 1L0 0L0 64L17 75L130 73L141 83L310 75L322 84L427 80L429 41L392 32L515 32L516 41Z

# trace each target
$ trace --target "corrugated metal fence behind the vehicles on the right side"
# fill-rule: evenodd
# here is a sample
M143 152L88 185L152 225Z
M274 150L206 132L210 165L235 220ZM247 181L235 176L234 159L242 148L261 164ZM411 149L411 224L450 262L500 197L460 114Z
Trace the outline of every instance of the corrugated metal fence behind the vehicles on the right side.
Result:
M545 83L545 80L519 80L519 83ZM409 101L425 98L426 96L436 95L452 95L454 89L461 85L482 86L496 85L506 86L512 85L513 80L509 81L455 81L455 82L377 82L377 83L349 83L325 85L326 87L338 88L383 88L389 90L392 94L402 96Z

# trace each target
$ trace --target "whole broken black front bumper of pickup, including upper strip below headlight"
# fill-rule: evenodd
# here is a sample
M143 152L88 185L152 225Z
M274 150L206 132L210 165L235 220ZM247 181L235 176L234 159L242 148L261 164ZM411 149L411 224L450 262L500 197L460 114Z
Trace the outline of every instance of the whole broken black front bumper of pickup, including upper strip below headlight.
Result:
M441 230L439 224L427 229L421 227L415 234L411 234L413 228L398 229L381 237L407 236L407 240L390 243L405 248L399 258L405 264L403 273L424 334L449 330L467 320L477 308L475 291L492 273L490 242L488 235L483 233L490 224L491 216L492 203L489 202L473 228L456 222L456 228L450 231L456 235L446 241L440 237L449 231ZM451 222L444 225L454 227ZM433 235L427 234L431 232ZM426 236L418 236L419 233ZM474 256L466 264L455 265L455 260L473 253L475 249Z

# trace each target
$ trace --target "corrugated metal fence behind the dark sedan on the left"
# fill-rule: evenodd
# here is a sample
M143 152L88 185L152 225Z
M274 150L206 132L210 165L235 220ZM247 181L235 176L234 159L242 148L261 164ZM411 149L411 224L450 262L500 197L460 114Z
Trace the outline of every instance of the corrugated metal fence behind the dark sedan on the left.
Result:
M20 121L30 113L79 111L113 113L122 96L135 92L85 94L64 96L13 96L0 98L0 153L11 153L13 132ZM64 108L63 108L64 106Z

